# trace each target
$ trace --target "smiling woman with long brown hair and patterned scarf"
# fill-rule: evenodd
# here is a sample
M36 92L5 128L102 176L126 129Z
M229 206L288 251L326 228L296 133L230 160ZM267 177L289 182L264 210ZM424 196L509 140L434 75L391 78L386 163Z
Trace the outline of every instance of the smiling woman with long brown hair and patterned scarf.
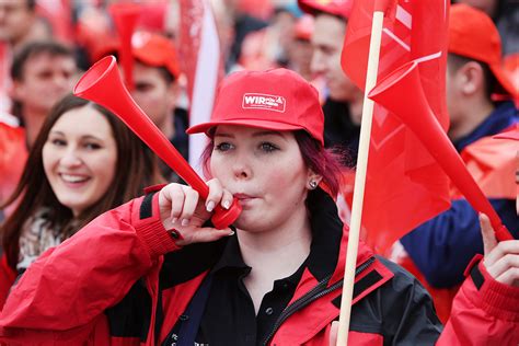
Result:
M154 157L111 112L68 95L50 111L5 206L0 293L48 247L162 182ZM3 303L4 296L1 297Z

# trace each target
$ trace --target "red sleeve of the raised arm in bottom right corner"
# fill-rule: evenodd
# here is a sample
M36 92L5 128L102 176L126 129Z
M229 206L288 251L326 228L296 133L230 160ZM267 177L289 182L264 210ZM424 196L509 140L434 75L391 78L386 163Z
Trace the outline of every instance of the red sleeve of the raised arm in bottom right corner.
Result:
M482 262L468 272L438 345L519 345L519 288L496 281Z

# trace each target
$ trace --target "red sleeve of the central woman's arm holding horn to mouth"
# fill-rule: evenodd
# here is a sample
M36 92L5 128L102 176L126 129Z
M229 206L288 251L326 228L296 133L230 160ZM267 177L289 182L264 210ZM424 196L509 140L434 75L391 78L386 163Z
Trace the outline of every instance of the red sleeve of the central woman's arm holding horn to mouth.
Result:
M158 194L109 210L31 265L5 302L0 334L92 331L105 309L176 249L160 220Z

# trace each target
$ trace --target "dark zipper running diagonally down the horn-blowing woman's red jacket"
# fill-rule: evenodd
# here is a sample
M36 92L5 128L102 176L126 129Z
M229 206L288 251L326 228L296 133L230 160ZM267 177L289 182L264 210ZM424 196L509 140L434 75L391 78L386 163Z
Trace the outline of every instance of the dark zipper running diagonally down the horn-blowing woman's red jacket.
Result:
M357 269L355 270L355 276L366 270L366 268L368 268L373 262L374 262L374 257L369 257L365 263L362 263L360 266L357 267ZM268 344L268 342L274 336L274 334L276 334L277 330L281 326L281 324L295 312L307 307L314 300L318 300L319 298L324 297L330 292L333 292L337 288L343 287L344 279L338 280L334 285L326 288L326 285L331 277L332 275L328 275L327 277L319 281L318 285L312 290L310 290L307 295L304 295L303 297L299 298L293 303L285 308L285 310L281 312L279 318L277 319L276 323L274 324L273 330L270 331L270 333L268 333L267 337L263 342L263 345L266 346Z

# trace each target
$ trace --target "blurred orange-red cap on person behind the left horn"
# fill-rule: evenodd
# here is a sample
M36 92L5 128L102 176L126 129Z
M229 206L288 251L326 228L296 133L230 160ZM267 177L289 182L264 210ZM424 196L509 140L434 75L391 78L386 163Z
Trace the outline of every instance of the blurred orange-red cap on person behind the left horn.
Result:
M165 67L174 78L180 74L176 49L168 37L148 32L135 33L131 37L131 53L146 65Z

